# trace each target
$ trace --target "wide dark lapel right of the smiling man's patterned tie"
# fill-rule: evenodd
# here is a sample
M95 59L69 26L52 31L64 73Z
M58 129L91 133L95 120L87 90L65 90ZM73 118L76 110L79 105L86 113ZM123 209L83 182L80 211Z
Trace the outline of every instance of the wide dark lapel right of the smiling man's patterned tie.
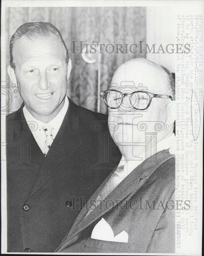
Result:
M87 135L79 132L79 111L69 100L69 106L62 125L39 170L35 183L26 201L38 191L68 161Z

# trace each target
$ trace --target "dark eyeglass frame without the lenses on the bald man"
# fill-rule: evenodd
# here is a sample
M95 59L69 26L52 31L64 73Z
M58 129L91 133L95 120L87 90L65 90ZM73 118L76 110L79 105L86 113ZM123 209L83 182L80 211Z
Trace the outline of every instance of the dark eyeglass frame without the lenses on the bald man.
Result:
M103 96L104 102L105 102L106 106L107 106L109 109L118 109L118 108L120 107L120 105L121 105L121 104L118 105L116 108L111 108L111 107L108 106L107 101L106 101L106 95L107 95L107 93L110 92L110 91L119 92L119 93L122 95L121 104L122 104L122 102L123 102L124 97L130 95L130 96L129 96L130 104L131 104L131 106L132 106L134 109L136 109L136 110L146 110L147 108L149 108L149 105L150 105L150 103L151 103L151 101L152 101L153 98L162 98L162 99L171 99L171 100L174 100L173 97L170 96L170 95L154 94L154 93L145 92L145 91L134 91L134 92L132 92L132 93L123 93L123 92L121 92L121 91L111 89L111 90L105 90L105 91L102 91L102 92L101 92L101 95ZM133 106L132 102L131 102L131 97L132 97L132 95L133 95L134 93L138 93L138 92L146 93L146 94L148 94L148 96L149 96L149 98L150 98L150 99L149 99L149 104L148 104L147 107L144 108L144 109L135 108L135 107Z

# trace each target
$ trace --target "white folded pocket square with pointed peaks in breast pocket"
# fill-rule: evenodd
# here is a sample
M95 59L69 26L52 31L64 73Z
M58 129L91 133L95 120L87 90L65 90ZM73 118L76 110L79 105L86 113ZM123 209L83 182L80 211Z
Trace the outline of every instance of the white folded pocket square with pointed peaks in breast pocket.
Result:
M111 242L128 243L128 233L123 230L114 237L111 226L104 220L104 218L95 225L91 233L91 238Z

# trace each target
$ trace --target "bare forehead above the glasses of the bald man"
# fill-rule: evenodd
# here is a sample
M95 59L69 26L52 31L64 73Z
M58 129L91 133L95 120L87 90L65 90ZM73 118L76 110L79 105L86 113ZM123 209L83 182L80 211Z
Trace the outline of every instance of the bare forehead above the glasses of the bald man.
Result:
M125 64L125 63L124 63ZM122 65L113 75L110 89L120 91L146 90L157 94L168 94L167 78L165 72L157 66L147 63Z

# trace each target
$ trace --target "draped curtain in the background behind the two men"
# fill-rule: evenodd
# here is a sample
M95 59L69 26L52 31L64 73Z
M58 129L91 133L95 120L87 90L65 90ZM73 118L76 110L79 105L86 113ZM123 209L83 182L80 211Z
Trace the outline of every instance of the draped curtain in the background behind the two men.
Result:
M77 105L97 111L97 62L85 62L79 48L76 48L75 54L71 53L71 41L76 41L76 46L80 45L79 41L84 41L85 44L99 42L114 46L145 41L145 11L145 7L8 7L6 66L10 60L9 40L16 29L26 22L50 22L61 32L72 61L67 95ZM109 54L103 50L104 53L101 54L101 91L110 85L113 73L120 64L128 59L145 57L145 54L116 54L115 51ZM6 78L11 86L8 75ZM17 105L12 106L13 110L17 108ZM102 96L100 112L107 112Z

